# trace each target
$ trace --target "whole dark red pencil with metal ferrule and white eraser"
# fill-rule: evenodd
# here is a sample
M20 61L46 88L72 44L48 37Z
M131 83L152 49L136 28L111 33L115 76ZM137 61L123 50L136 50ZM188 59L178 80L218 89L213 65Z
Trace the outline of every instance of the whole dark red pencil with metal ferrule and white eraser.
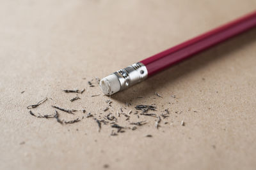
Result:
M100 87L106 95L127 89L163 69L171 67L196 53L202 52L253 27L256 27L256 11L141 60L136 64L120 69L106 78L102 78Z

